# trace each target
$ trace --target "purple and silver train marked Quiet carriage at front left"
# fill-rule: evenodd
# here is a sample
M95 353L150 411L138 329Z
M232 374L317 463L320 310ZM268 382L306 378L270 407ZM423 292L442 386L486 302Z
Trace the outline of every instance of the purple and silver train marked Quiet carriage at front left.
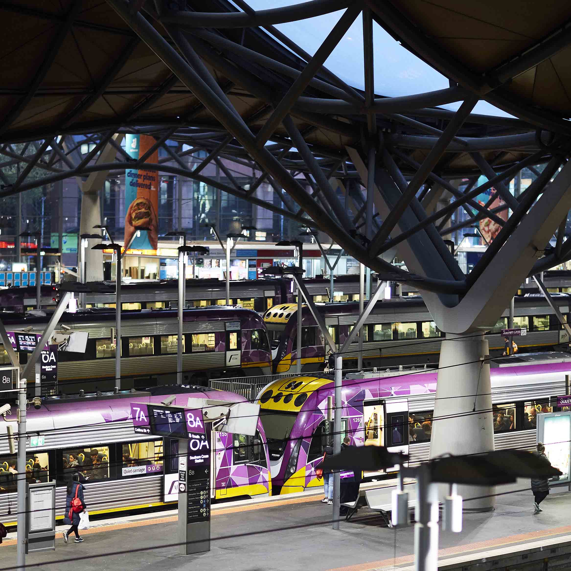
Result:
M171 395L176 396L172 405L178 406L186 406L189 396L245 400L235 393L174 385L120 395L49 397L41 409L29 409L27 431L43 440L27 449L25 477L31 483L57 482L57 519L63 517L65 486L75 471L87 478L85 496L91 514L159 508L178 501L178 439L135 433L131 417L131 402L160 404ZM7 421L0 424L0 521L15 525L18 475L9 468L16 463L16 455L9 452L5 428L13 423L17 431L15 415ZM212 500L271 494L265 441L259 420L255 436L211 432Z

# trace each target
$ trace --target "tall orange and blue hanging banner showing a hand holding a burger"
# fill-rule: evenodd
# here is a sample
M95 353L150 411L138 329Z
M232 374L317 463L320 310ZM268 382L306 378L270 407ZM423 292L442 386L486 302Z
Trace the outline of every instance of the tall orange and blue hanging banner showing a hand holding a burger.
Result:
M134 159L143 156L155 143L149 135L125 136L125 151ZM158 151L154 151L147 162L158 162ZM158 242L158 172L127 169L125 171L125 247L131 242L130 250L156 250ZM142 230L148 228L148 230ZM140 235L136 235L137 232Z

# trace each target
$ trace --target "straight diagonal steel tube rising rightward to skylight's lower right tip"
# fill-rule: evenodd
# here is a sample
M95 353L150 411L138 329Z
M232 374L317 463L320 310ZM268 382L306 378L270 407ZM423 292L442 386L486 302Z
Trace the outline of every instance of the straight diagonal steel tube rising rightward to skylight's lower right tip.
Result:
M428 175L430 172L432 172L437 162L444 154L448 144L456 135L464 123L465 118L470 114L476 103L476 98L469 98L465 100L457 111L455 118L452 119L450 123L448 123L448 126L446 127L443 135L438 139L435 146L428 153L427 158L424 159L420 169L416 172L415 176L413 176L411 182L408 183L407 190L403 192L401 198L399 198L398 202L392 208L391 212L387 216L387 219L383 220L383 224L381 224L379 231L372 239L369 251L372 252L373 255L378 254L385 240L387 240L400 217L409 206L413 196L416 195L416 193L419 191L419 188L424 184Z

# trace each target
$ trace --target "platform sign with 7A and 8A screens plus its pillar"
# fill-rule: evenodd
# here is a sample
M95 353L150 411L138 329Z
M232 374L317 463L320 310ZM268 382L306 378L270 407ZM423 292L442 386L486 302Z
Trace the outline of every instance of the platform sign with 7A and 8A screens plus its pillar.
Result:
M210 551L212 431L253 436L259 411L256 404L210 399L190 398L187 407L131 403L135 432L178 439L180 554Z

